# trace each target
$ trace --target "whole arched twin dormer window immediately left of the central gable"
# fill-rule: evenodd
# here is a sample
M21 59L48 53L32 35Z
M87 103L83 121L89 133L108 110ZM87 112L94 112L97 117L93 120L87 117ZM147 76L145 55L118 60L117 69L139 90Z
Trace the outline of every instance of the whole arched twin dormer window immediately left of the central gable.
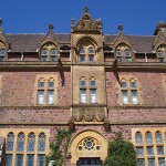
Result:
M41 61L56 61L58 50L52 43L48 43L41 50Z

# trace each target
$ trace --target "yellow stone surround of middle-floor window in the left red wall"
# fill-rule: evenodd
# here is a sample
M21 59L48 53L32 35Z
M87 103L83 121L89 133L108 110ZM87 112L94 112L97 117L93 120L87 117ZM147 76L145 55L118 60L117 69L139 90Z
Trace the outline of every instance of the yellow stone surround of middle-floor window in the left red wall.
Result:
M41 80L41 82L44 82L44 87L39 87L39 81ZM54 87L49 87L49 81L54 82ZM34 83L34 105L44 105L44 106L53 106L58 104L58 87L59 87L59 83L58 83L58 74L39 74L35 76L35 83ZM39 91L44 91L44 103L43 104L39 104L38 102L38 92ZM54 98L53 98L53 103L48 104L48 92L49 91L53 91L54 92Z

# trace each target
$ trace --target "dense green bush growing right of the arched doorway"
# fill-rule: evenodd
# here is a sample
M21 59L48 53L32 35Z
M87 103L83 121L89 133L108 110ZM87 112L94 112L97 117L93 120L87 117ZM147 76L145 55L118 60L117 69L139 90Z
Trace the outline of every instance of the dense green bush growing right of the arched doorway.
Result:
M121 133L116 133L113 142L108 143L107 157L104 166L136 166L134 145L125 142Z

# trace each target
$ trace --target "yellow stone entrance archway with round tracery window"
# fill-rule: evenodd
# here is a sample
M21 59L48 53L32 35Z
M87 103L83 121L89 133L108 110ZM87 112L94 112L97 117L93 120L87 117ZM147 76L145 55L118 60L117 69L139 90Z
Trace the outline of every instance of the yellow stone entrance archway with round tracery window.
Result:
M107 155L106 138L95 131L83 131L76 134L69 146L71 164L76 164L79 158L96 157L104 160Z

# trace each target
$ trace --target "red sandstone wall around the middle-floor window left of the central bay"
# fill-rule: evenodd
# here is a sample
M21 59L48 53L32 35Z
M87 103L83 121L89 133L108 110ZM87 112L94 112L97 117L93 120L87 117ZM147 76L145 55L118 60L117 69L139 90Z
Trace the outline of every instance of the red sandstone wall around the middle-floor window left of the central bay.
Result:
M69 71L10 71L1 72L2 90L1 106L33 106L35 105L35 75L58 74L58 106L71 104L71 73Z

